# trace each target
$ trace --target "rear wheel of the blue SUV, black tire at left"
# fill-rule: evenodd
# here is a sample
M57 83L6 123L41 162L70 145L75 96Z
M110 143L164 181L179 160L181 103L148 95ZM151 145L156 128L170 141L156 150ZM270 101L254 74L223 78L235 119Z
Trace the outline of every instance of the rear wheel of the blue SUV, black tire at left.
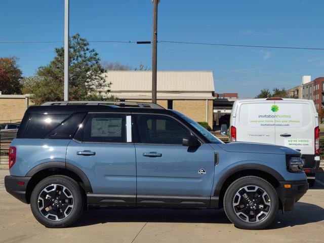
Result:
M55 187L53 185L56 185ZM49 198L60 198L60 195L62 193L62 191L64 190L64 197L66 195L68 195L70 198L63 199L63 203L62 205L64 205L65 202L67 202L65 205L67 206L61 206L61 209L64 208L64 210L68 211L68 215L66 215L66 211L64 211L64 213L62 213L62 210L60 211L60 214L58 214L59 216L61 216L61 219L59 219L59 217L53 219L55 216L55 212L58 213L59 208L55 208L57 210L54 211L54 204L53 207L52 206L48 206L45 209L42 210L41 206L48 204L49 201L51 201L51 199L42 199L41 198L41 193L47 194L47 192L44 190L48 190L47 188L53 188L53 190L51 190L50 193L60 193L60 194L56 194L58 197L49 197ZM59 192L59 188L64 188L62 189L61 192ZM58 188L58 189L56 189ZM51 194L52 195L52 194ZM62 196L62 197L63 197ZM43 197L43 195L42 195ZM38 199L40 198L40 200ZM53 199L53 200L54 200ZM39 203L39 201L41 201L41 203ZM59 201L59 205L61 204L60 199L56 200ZM41 205L41 206L40 206ZM70 205L70 207L68 207ZM51 209L53 209L53 211L49 210L49 207L51 207ZM57 206L55 206L57 207ZM72 209L67 209L67 208L71 208ZM64 228L64 227L68 227L71 224L73 224L82 214L83 212L83 208L84 208L84 194L81 190L81 188L79 187L79 185L76 183L76 181L74 181L73 179L71 179L70 177L67 176L61 176L61 175L57 175L57 176L50 176L45 178L44 180L42 180L41 182L39 182L35 188L33 189L32 193L31 193L31 197L30 197L30 208L31 208L31 212L34 215L34 217L36 218L36 220L43 224L45 227L48 228ZM52 213L53 212L53 216L48 216L48 215L44 215L47 214L47 210L49 210L48 212ZM48 213L49 214L49 213ZM50 217L52 219L50 219ZM55 216L56 217L56 216Z

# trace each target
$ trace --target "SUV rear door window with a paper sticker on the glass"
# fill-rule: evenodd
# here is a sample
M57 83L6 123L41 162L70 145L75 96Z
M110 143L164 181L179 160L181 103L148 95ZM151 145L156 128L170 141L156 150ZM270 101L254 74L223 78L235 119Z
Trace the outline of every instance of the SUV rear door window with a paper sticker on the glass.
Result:
M126 142L126 114L90 114L83 130L83 141Z

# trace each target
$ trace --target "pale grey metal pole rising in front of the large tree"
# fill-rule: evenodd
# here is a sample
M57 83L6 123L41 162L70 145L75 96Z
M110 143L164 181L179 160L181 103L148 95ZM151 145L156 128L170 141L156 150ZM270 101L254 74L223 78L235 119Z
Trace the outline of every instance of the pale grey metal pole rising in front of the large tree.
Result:
M64 7L64 101L69 100L69 0Z

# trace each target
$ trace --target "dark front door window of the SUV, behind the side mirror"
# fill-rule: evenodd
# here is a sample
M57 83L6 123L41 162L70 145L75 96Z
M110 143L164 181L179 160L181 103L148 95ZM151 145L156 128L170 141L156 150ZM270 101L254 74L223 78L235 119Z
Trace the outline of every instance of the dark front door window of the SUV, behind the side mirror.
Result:
M137 115L142 143L182 144L183 135L190 131L179 121L165 115Z

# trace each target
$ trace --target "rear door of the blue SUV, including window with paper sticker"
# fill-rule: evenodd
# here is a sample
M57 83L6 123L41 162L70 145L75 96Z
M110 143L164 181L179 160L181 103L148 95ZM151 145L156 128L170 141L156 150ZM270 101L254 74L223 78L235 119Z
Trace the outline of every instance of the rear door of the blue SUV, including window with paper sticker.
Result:
M131 115L89 113L83 126L67 147L66 162L88 177L94 193L88 195L88 201L89 196L94 196L90 198L93 204L110 201L113 205L135 205L136 158Z

